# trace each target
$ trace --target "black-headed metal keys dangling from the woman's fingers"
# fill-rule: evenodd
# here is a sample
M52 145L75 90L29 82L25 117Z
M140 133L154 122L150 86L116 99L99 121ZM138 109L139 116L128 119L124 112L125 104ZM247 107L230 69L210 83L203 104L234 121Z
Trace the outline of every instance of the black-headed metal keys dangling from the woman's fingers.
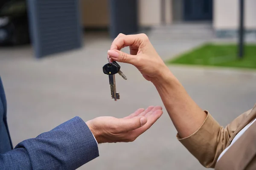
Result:
M116 77L115 74L118 73L120 76L122 76L123 79L127 80L125 75L120 70L120 65L117 64L116 61L110 62L108 64L105 64L103 66L103 73L108 75L109 78L109 84L110 84L110 90L111 90L111 97L112 99L120 99L119 93L116 92Z

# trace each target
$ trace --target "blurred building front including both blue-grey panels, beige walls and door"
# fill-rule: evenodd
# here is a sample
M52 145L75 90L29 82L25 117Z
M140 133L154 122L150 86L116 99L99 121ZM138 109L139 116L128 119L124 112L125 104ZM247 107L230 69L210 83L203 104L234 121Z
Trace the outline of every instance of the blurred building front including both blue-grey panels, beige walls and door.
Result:
M239 0L26 1L36 57L81 48L82 28L107 28L115 38L139 28L207 22L218 37L234 37L239 26ZM256 0L244 2L245 32L256 36Z

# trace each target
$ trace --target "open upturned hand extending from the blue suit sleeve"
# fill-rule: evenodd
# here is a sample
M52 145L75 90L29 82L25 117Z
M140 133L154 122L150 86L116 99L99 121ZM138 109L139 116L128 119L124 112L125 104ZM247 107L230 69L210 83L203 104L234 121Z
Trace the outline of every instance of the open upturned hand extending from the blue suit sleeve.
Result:
M146 110L138 109L122 119L111 116L97 117L86 122L97 142L133 142L148 130L163 114L161 106L149 106Z

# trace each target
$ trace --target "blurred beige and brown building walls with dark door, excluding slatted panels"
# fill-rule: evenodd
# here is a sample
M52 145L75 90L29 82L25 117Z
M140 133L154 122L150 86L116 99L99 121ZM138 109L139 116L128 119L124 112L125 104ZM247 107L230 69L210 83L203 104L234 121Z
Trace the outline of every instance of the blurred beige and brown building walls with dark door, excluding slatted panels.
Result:
M111 24L109 0L81 3L84 27L107 28ZM256 34L255 8L256 0L244 0L246 33ZM239 27L239 0L137 0L137 18L139 27L207 21L217 37L234 37Z

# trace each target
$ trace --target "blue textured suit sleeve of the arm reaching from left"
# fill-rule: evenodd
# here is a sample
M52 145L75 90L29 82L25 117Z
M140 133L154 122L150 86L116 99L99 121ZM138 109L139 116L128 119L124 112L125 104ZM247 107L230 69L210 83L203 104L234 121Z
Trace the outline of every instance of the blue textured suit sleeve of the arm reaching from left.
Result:
M97 142L80 117L0 154L1 170L75 170L99 156Z

